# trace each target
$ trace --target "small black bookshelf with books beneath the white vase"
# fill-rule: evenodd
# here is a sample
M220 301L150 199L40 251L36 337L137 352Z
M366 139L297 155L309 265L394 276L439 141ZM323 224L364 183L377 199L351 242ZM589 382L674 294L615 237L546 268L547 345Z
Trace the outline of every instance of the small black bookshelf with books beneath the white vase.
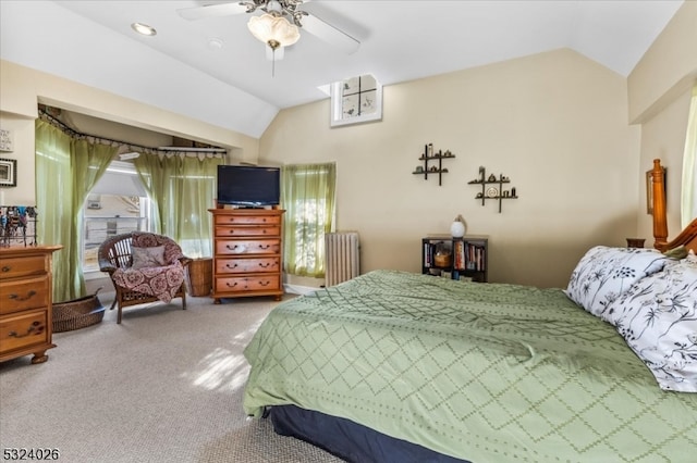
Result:
M465 281L489 280L486 237L421 238L421 273Z

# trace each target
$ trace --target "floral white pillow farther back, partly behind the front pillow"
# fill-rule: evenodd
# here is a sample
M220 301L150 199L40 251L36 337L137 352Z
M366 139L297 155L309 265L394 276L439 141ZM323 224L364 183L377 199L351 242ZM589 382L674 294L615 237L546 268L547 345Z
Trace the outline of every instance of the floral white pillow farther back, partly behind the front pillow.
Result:
M596 246L586 252L571 274L566 296L594 315L639 279L663 270L670 258L652 249Z

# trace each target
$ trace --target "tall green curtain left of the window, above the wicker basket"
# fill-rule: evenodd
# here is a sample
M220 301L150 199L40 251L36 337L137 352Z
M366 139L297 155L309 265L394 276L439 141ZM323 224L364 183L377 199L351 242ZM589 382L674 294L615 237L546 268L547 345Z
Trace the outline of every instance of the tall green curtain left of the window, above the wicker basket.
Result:
M66 301L84 296L81 212L117 148L74 140L41 120L35 129L38 241L63 247L53 253L53 300Z

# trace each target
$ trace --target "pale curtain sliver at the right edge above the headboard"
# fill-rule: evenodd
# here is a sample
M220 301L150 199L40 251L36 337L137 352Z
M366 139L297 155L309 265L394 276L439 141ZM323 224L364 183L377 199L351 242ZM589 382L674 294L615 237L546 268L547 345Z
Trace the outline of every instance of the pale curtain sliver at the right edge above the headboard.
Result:
M689 103L685 153L683 155L683 193L681 218L683 229L697 217L697 83Z

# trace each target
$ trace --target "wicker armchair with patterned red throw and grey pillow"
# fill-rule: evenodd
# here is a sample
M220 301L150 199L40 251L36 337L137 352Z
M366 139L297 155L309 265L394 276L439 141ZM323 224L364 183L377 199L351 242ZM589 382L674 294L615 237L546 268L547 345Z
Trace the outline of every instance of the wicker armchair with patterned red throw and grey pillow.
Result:
M99 246L98 259L117 291L110 308L119 308L117 323L129 305L182 298L186 310L184 270L192 260L171 238L145 232L115 235Z

